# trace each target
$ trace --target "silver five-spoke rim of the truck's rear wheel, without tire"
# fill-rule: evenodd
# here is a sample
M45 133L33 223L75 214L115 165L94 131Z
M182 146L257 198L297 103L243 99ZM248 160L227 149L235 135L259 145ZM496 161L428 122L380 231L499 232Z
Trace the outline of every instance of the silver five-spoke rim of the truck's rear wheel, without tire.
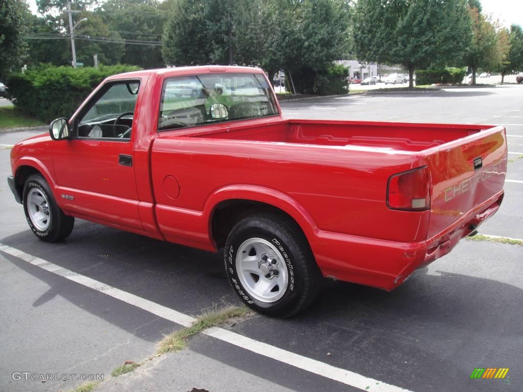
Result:
M276 302L287 291L285 260L276 246L263 238L249 238L240 245L236 271L247 293L260 302Z

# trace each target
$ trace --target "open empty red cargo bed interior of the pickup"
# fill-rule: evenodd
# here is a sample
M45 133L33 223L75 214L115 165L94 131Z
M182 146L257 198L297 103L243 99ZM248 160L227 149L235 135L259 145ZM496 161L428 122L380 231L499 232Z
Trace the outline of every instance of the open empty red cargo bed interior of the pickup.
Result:
M489 125L453 125L362 121L288 120L260 126L242 126L194 133L192 137L324 146L376 147L419 152L461 139Z

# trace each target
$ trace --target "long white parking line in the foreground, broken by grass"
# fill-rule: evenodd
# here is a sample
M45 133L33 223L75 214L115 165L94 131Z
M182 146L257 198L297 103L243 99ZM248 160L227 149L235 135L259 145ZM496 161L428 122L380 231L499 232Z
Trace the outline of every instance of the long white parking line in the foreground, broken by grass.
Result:
M79 273L53 264L47 260L31 256L29 255L29 253L26 253L19 249L0 244L0 251L3 251L8 255L22 259L32 264L33 266L40 267L46 271L62 276L65 279L69 279L73 282L79 283L83 286L89 287L90 289L96 290L100 293L104 293L113 298L120 299L120 301L139 307L140 309L146 310L147 312L152 313L156 316L165 318L169 321L173 321L176 324L183 325L184 327L189 327L196 320L194 317L177 312L176 310L170 309L160 304L156 304L152 301L149 301L148 299L141 298L137 295L117 289L116 287L112 287L105 283L98 282L94 279L88 278L87 276L81 275ZM242 349L266 356L267 358L286 363L299 369L326 378L330 378L334 381L338 381L340 383L364 391L411 392L407 389L396 387L391 384L382 383L381 381L378 381L376 379L365 377L361 374L350 372L339 367L331 366L326 363L307 358L306 356L295 354L291 351L282 350L273 345L266 344L251 338L247 338L246 336L240 335L236 332L232 332L223 328L213 327L203 330L202 333L204 333L204 335L211 336L215 339L219 339L224 342L236 345L237 347L241 347Z

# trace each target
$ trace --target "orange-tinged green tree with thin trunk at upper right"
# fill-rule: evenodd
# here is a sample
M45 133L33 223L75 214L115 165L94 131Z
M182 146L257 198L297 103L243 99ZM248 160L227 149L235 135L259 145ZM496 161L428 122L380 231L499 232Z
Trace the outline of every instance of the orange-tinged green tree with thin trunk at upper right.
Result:
M481 14L477 8L469 8L472 20L472 41L465 60L472 71L472 84L476 84L477 68L495 68L499 63L499 52L496 48L496 26L490 16Z

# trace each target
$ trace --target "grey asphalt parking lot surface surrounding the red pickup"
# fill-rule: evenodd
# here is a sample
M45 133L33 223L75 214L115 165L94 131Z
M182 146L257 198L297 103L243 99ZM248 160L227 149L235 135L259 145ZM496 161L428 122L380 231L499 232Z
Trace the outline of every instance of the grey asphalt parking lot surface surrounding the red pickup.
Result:
M507 85L430 94L355 95L281 106L288 118L504 125L509 159L514 159L507 179L513 182L506 182L501 209L480 233L523 238L523 159L518 159L523 155L522 97L523 86ZM180 328L103 289L87 287L81 279L67 279L67 270L185 315L239 304L221 255L80 220L63 243L39 241L5 182L10 172L9 145L31 134L0 134L4 178L0 243L24 252L13 255L0 248L0 391L67 390L79 382L17 381L12 374L109 375L126 360L146 358L163 335ZM30 264L24 255L46 260L52 268ZM254 315L224 327L273 350L313 359L314 366L353 372L368 380L368 388L343 382L355 379L350 374L340 381L339 372L306 370L305 365L298 366L306 361L290 354L294 365L272 359L274 353L254 353L210 336L192 340L189 352L228 366L230 373L215 374L236 377L235 387L226 390L254 390L249 385L256 379L270 383L266 390L310 392L521 391L522 260L521 246L463 240L391 293L328 281L310 310L298 317L279 320ZM66 273L53 273L59 268ZM476 367L510 370L504 379L471 379ZM173 378L177 371L172 369ZM202 367L189 373L193 387L225 392L200 383L206 378L204 372Z

